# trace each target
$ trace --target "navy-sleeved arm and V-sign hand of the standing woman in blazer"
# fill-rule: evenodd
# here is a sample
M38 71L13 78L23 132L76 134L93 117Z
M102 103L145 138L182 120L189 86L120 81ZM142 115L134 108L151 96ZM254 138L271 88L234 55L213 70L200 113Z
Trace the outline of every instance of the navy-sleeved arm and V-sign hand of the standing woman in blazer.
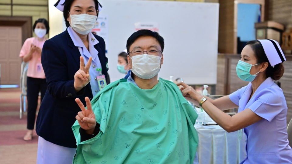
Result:
M90 57L84 66L83 58L80 57L80 69L75 73L74 80L69 80L73 77L68 77L67 59L58 47L51 40L47 40L43 45L41 61L48 91L57 98L75 97L90 82L89 68L92 58Z

